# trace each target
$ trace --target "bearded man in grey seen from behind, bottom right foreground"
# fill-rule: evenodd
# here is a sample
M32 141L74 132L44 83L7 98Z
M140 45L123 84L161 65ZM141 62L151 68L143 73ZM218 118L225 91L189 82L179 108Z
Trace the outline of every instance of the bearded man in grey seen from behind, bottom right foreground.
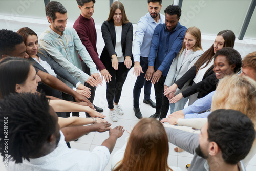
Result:
M254 124L243 113L219 109L208 116L201 133L165 129L170 143L194 154L188 170L245 170L243 160L255 139Z

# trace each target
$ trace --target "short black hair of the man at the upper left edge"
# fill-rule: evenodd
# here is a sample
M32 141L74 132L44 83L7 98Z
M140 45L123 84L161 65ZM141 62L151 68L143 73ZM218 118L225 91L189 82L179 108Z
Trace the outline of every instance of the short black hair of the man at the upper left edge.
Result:
M22 36L12 30L0 30L0 57L2 55L12 55L15 46L23 42Z

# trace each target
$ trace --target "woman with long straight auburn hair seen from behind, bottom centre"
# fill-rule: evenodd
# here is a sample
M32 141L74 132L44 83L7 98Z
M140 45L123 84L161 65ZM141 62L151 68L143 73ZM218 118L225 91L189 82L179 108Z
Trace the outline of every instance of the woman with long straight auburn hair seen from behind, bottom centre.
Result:
M168 166L168 153L163 125L154 118L143 118L134 126L127 144L114 154L111 167L114 171L181 170Z

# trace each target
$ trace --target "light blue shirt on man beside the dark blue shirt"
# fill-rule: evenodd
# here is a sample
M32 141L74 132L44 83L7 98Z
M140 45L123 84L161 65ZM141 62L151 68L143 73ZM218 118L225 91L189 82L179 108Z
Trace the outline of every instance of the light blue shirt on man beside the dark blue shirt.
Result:
M147 13L145 16L140 18L137 24L133 44L134 61L140 62L140 56L148 57L154 30L158 24L165 22L165 16L160 13L159 16L160 19L158 23L150 16L150 13Z

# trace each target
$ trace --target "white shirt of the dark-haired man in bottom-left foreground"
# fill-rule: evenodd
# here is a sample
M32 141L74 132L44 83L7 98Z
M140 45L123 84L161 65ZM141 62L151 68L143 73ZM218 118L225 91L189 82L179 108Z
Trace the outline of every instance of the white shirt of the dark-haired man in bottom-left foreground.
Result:
M104 170L110 160L109 149L105 146L97 146L92 152L86 150L68 148L64 135L60 131L60 141L57 148L50 154L28 160L23 160L22 164L15 164L9 161L7 170L54 170L54 171L77 171Z

